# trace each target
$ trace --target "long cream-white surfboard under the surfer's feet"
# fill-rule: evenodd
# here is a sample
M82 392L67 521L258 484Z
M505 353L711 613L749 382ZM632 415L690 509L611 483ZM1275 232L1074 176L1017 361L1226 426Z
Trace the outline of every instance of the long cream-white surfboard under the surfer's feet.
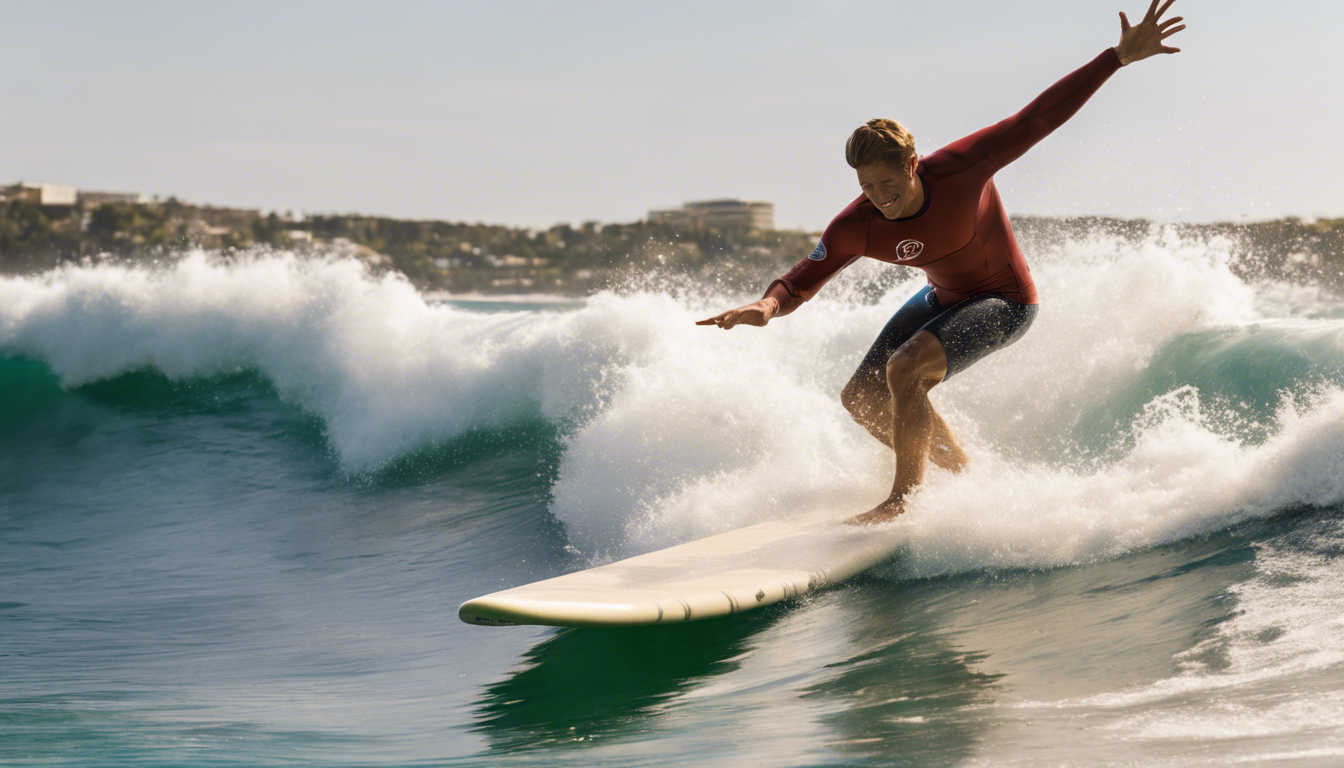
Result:
M468 600L468 624L630 627L741 613L845 581L892 557L902 526L804 515L731 530Z

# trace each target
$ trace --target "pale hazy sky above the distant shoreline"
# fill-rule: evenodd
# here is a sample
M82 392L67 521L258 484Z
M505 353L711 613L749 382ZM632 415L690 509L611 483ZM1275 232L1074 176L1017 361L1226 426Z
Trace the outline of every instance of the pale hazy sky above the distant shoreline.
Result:
M0 184L550 227L769 200L820 230L844 141L922 153L1118 42L1142 0L0 0ZM1013 214L1344 217L1344 4L1177 0L1183 52L1118 71L1001 171Z

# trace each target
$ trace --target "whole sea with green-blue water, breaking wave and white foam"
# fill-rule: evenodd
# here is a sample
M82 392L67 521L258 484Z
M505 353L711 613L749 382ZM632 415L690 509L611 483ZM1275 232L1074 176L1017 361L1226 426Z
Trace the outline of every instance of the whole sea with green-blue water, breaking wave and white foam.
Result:
M902 551L620 631L456 609L884 498L837 391L918 277L731 332L656 276L0 278L0 764L1344 764L1344 304L1161 229L1024 245L1043 309L934 390L972 465Z

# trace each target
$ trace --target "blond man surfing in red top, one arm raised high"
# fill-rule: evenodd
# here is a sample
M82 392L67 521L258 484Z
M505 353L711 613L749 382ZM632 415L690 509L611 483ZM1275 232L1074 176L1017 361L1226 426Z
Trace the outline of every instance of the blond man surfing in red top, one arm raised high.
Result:
M1180 16L1163 20L1175 0L1160 1L1152 0L1134 26L1121 12L1120 43L1025 109L933 155L917 156L914 137L894 120L859 126L845 144L845 160L863 194L762 299L696 323L724 330L765 325L864 256L926 273L929 285L892 315L840 394L855 421L896 455L891 495L848 522L883 522L903 512L906 498L923 482L926 460L953 472L966 465L929 390L1021 338L1039 304L993 175L1073 117L1120 67L1179 52L1164 40L1185 26Z

